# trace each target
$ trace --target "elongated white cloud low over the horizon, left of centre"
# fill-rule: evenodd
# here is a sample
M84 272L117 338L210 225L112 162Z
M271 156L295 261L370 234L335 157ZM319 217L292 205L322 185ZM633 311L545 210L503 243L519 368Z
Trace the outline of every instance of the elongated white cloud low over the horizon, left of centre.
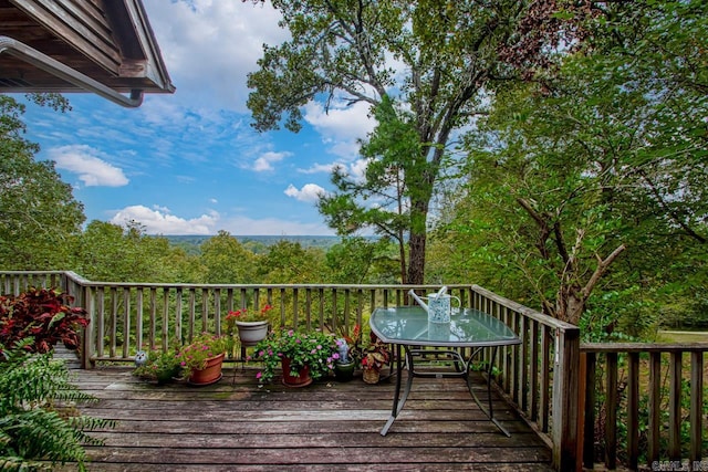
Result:
M142 204L125 207L111 219L114 224L124 225L137 221L147 234L215 234L219 213L211 212L198 218L185 219L169 214L169 210L155 206L149 209Z

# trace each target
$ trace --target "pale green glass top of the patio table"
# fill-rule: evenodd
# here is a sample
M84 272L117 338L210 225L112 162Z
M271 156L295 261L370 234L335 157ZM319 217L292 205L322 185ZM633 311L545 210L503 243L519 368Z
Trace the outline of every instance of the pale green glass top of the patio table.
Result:
M502 346L520 344L501 321L472 308L452 308L450 323L429 323L418 306L376 308L372 331L384 343L426 346Z

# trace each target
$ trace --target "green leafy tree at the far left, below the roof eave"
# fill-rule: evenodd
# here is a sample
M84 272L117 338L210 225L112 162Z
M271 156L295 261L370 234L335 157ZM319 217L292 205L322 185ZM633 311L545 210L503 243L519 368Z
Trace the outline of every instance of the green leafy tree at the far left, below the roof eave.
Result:
M52 98L40 96L52 106ZM6 269L66 269L85 217L53 161L22 137L25 106L0 95L0 264Z

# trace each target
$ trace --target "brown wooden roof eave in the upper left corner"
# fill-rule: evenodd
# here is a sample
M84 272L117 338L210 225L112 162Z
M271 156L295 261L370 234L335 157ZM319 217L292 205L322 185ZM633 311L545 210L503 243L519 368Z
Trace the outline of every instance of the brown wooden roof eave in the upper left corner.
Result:
M175 91L140 0L0 0L0 36L119 93ZM12 54L0 54L2 92L82 90Z

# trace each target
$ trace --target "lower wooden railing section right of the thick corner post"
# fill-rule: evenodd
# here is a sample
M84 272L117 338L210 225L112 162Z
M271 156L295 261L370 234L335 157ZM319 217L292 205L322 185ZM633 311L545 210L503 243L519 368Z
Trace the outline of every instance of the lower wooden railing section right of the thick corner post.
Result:
M581 345L583 465L708 470L706 352L708 343Z

